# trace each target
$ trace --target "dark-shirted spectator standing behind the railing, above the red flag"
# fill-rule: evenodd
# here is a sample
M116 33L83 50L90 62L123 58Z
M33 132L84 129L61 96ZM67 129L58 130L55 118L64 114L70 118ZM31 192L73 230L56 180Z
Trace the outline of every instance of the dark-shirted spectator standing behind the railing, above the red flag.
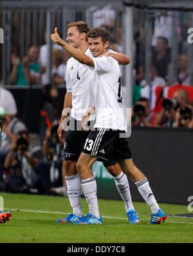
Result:
M170 50L168 40L165 37L158 37L154 51L152 52L152 64L158 70L158 76L167 81L168 68L170 63Z

